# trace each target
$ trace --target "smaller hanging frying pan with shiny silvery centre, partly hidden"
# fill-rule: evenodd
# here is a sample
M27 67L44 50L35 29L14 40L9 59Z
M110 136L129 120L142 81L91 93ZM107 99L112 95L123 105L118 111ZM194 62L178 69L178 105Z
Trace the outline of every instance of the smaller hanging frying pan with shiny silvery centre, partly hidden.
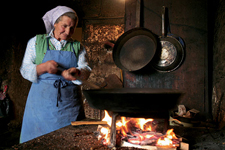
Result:
M176 70L184 59L184 42L180 37L170 33L169 21L165 21L166 7L162 8L162 36L160 37L161 50L156 52L152 60L154 69L160 72ZM166 26L166 23L168 26ZM168 33L167 33L168 32Z

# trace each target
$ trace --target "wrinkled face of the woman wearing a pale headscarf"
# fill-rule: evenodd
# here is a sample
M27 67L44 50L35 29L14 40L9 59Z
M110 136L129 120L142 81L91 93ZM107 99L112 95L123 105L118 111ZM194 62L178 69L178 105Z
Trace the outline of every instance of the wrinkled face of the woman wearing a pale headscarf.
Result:
M58 23L54 24L54 36L58 41L68 40L75 30L75 21L68 16L62 16Z

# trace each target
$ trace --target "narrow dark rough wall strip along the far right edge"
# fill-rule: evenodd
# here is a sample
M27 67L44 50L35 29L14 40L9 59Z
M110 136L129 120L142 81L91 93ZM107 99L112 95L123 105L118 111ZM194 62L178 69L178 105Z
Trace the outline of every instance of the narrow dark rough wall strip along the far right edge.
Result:
M218 1L213 45L212 114L219 127L225 126L225 1Z

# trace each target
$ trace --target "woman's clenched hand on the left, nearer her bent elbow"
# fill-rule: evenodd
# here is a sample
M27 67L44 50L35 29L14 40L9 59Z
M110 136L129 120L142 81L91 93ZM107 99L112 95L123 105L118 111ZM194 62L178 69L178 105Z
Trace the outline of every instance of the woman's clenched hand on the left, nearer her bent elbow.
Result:
M41 63L37 65L36 70L37 74L41 75L43 73L56 74L58 72L58 64L54 60L46 61L45 63Z

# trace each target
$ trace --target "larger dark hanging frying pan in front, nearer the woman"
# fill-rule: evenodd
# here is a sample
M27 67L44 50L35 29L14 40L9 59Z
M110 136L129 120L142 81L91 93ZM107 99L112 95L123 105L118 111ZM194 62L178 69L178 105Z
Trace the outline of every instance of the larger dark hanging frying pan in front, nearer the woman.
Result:
M136 71L146 66L157 48L157 38L148 29L140 27L142 1L137 0L136 28L128 30L113 47L113 60L124 71Z

